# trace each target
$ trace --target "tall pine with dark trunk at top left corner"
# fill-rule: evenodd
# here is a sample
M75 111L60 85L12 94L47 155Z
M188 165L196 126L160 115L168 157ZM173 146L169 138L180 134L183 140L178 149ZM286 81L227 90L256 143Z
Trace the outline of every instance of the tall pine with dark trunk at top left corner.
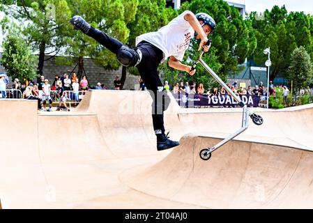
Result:
M16 6L12 3L16 3ZM70 25L70 10L66 0L16 0L1 1L0 10L6 13L2 24L11 29L12 18L20 26L27 44L38 52L38 74L43 73L43 66L48 59L58 54L67 45Z

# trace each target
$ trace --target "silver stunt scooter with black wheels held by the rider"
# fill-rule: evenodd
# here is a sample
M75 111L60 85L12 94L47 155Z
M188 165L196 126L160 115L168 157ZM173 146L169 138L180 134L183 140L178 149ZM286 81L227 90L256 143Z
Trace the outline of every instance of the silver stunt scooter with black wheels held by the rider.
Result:
M211 40L208 40L206 45L210 45L210 44L211 44ZM262 125L263 118L257 114L254 114L254 112L250 111L250 109L247 108L247 105L245 105L245 103L241 100L241 98L239 98L238 95L236 95L233 91L231 91L231 89L229 89L229 87L222 81L222 79L220 79L220 77L218 77L215 74L215 72L202 60L203 54L204 54L204 51L201 52L199 59L193 63L191 70L194 70L197 64L201 63L201 65L206 69L206 71L208 71L212 75L212 77L221 86L224 87L224 89L229 93L229 95L231 95L231 97L234 98L236 102L238 102L238 105L243 108L243 121L242 121L241 128L237 130L236 132L234 132L233 134L229 135L229 137L220 141L215 146L211 148L204 148L203 150L200 151L199 155L202 160L210 160L212 153L216 151L217 148L220 148L221 146L226 144L228 141L230 141L231 139L234 139L236 136L238 136L239 134L247 130L247 128L249 127L249 116L250 118L252 118L253 123L256 125Z

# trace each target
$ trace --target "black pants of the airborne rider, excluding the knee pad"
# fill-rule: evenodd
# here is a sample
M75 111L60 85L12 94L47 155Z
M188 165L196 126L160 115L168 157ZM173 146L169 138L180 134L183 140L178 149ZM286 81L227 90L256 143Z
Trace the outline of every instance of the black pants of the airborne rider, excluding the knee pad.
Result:
M94 29L91 27L88 36L91 36L98 41L101 45L109 49L109 51L117 54L123 43L119 40L108 36L106 33ZM141 42L137 45L137 49L142 52L142 61L137 66L140 76L146 84L146 88L149 90L151 97L153 98L152 104L152 120L153 128L156 133L165 133L164 128L164 111L169 105L169 98L166 91L162 91L163 84L158 75L158 66L163 58L162 50L158 49L147 42ZM158 87L161 87L160 89Z

